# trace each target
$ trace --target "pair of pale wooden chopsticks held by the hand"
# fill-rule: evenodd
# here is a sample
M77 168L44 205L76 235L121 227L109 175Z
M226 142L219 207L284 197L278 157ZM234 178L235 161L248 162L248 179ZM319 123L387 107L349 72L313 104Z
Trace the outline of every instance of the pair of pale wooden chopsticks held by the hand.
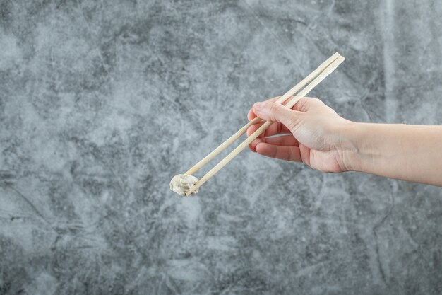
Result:
M306 76L301 82L297 83L297 85L295 85L292 89L287 91L287 93L285 93L283 96L278 98L278 100L276 100L276 103L285 103L285 100L292 97L294 93L297 93L297 91L299 91L301 88L306 86L307 83L310 82L309 85L307 85L304 89L302 89L296 96L293 96L292 99L290 99L289 102L285 104L286 108L292 108L298 102L299 99L306 96L307 93L309 93L315 86L321 83L321 81L323 81L323 79L325 79L326 76L330 75L333 71L335 71L335 69L338 68L338 66L342 62L344 62L344 60L345 58L342 57L338 52L336 52L331 57L329 57L325 62L323 62L320 66L318 66L317 69L312 71L311 74L309 74L309 76ZM220 146L214 149L210 154L205 156L205 158L203 158L201 161L196 163L195 166L190 168L184 174L192 175L193 173L201 169L206 163L208 163L208 161L213 159L215 156L217 156L217 154L220 154L221 151L224 151L227 148L227 146L229 146L234 141L239 139L239 137L241 137L241 135L244 134L251 125L256 124L258 122L261 122L261 119L259 117L256 117L253 120L251 120L249 123L244 125L244 127L242 127L235 134L233 134L232 137L224 141ZM217 163L215 167L213 167L207 174L203 176L203 178L201 178L195 185L193 185L193 187L191 187L191 189L189 190L189 192L186 193L186 195L187 196L191 195L191 193L197 190L198 187L201 187L203 183L205 183L207 180L212 178L213 175L215 175L215 173L221 170L222 167L226 166L227 163L229 163L229 161L232 161L232 158L237 156L243 149L249 146L249 144L251 144L253 140L258 138L258 136L261 133L263 133L265 129L270 127L270 125L272 124L273 122L266 121L261 127L259 127L258 130L253 132L251 136L247 137L246 140L244 140L241 144L239 144L239 146L237 146L236 149L230 152L230 154L228 154L225 158L223 158L220 161L220 163Z

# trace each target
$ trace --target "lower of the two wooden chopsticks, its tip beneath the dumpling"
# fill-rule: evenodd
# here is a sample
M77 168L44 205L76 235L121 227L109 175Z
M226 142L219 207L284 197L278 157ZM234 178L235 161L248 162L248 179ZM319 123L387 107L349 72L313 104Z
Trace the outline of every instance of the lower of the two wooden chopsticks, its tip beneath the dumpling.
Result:
M306 88L302 89L296 96L294 96L291 100L289 100L289 103L285 105L286 108L292 108L299 99L306 96L313 88L315 88L325 77L330 75L333 71L335 71L338 66L345 61L345 58L342 56L339 56L337 59L335 59L329 66L327 66L321 74L319 74L309 85L306 86ZM258 138L258 136L265 131L270 125L272 125L273 122L267 121L265 122L261 127L256 130L256 132L253 132L251 136L247 137L246 140L244 140L239 146L237 146L236 149L234 149L230 154L228 154L225 158L223 158L220 163L217 163L215 167L213 167L208 173L206 173L203 178L201 178L191 189L189 192L186 193L186 196L191 195L192 192L197 190L201 185L203 185L207 180L213 177L215 173L217 173L221 168L227 165L230 161L232 161L232 158L237 156L242 150L244 150L253 140Z

